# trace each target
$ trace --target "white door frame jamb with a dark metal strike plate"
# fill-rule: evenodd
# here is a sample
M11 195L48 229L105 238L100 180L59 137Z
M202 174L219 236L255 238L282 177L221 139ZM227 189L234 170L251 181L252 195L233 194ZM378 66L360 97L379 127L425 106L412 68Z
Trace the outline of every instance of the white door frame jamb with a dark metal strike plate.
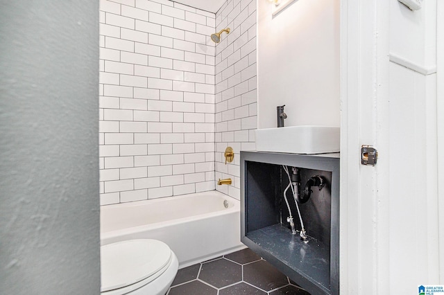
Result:
M340 292L384 294L388 268L389 1L341 0ZM377 166L361 165L374 145Z

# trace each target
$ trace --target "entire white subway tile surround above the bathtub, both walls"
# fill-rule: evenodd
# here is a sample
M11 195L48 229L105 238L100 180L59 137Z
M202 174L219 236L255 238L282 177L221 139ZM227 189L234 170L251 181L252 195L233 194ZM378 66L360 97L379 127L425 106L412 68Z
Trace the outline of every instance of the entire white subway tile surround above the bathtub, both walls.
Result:
M101 0L101 205L214 190L227 177L233 185L217 189L239 199L239 150L254 147L256 128L255 6L228 1L214 15ZM210 35L226 26L215 46Z

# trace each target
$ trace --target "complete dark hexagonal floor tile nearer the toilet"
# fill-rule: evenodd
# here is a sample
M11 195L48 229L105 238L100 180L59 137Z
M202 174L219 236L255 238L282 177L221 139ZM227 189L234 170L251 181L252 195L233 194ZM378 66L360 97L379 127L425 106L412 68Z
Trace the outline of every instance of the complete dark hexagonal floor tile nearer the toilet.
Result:
M242 280L242 267L235 262L221 258L202 264L199 279L221 288Z

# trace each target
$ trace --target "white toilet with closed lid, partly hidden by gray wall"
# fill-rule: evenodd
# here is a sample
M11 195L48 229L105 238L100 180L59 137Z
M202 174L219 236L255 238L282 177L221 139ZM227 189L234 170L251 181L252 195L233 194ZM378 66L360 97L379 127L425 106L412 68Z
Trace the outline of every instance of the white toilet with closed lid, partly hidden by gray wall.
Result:
M158 240L127 240L101 246L101 294L164 295L178 267L176 255Z

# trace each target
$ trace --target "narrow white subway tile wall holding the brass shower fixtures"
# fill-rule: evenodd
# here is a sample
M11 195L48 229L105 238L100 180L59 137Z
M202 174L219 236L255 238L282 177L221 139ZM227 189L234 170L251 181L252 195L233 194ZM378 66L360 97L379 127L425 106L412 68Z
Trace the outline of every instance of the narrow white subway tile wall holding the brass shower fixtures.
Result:
M216 190L239 199L239 151L255 150L257 128L256 1L225 2L216 13L215 31L223 28L230 28L230 34L222 33L214 59L215 178L231 178L232 185ZM225 165L228 146L234 150L234 161Z

